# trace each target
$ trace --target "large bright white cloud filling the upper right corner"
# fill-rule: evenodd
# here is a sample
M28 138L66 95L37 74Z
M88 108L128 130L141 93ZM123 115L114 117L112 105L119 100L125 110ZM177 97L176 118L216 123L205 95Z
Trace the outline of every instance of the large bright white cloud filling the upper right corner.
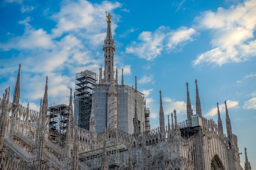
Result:
M206 11L195 18L195 28L210 30L213 49L198 55L193 65L238 63L255 57L256 1L249 0L229 9Z

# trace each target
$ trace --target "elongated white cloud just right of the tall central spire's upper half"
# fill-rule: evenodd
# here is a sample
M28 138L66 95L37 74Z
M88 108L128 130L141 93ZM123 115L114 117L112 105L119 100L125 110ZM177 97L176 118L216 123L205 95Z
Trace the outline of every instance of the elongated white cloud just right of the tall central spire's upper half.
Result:
M177 30L170 30L168 27L160 26L155 32L140 33L138 41L133 41L128 45L126 52L150 61L159 57L163 50L171 52L176 46L192 41L191 36L194 33L193 28L181 27Z

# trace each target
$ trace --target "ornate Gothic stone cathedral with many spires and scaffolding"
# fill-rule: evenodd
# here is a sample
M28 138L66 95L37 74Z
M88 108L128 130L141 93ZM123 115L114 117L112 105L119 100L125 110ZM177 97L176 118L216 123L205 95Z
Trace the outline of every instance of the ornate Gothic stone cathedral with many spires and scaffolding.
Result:
M48 105L47 77L40 110L20 105L19 66L13 100L10 87L0 99L0 170L243 170L227 103L225 134L218 103L218 122L202 116L196 80L195 114L186 83L187 119L177 122L173 108L165 125L160 91L159 127L150 129L136 78L135 87L125 85L122 69L118 84L110 14L107 24L104 70L99 82L89 70L76 76L74 111L72 89L69 105ZM246 148L244 170L251 170Z

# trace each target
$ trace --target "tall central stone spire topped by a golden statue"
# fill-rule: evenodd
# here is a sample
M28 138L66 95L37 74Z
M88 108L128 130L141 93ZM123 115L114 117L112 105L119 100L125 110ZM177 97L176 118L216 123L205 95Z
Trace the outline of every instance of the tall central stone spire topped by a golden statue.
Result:
M114 39L112 39L111 33L111 15L108 13L107 22L108 22L108 30L107 30L107 37L104 41L103 51L104 51L104 58L105 58L105 70L104 70L104 78L102 80L103 84L110 84L110 80L114 80L114 52L115 52L115 45Z

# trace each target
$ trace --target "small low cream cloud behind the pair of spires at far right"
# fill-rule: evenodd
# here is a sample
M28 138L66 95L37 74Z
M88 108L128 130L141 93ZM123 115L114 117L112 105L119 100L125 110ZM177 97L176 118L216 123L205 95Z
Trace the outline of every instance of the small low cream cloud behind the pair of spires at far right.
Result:
M238 101L231 101L231 100L227 100L227 109L231 109L231 108L238 108ZM226 107L225 104L219 104L219 110L220 113L226 113ZM210 109L210 111L205 115L205 116L210 116L213 117L215 115L218 114L218 109L217 106Z

